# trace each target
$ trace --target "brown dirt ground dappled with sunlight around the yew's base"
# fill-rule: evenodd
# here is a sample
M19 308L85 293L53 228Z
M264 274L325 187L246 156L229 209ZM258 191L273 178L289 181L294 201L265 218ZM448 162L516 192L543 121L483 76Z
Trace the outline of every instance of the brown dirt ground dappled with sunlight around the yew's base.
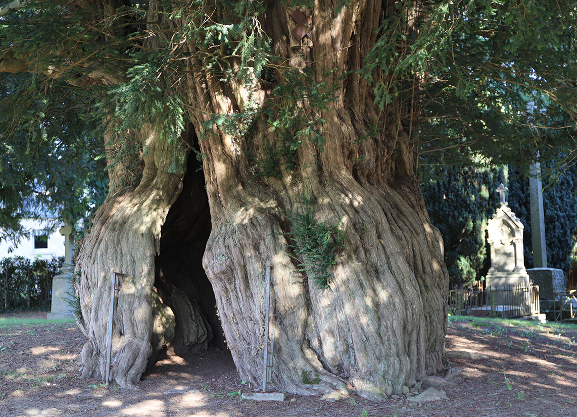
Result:
M577 417L575 329L451 321L447 351L485 358L451 359L462 377L443 388L449 400L420 405L404 395L383 403L241 400L239 392L252 390L231 356L215 350L162 360L138 390L103 386L78 378L83 343L74 324L0 326L0 416Z

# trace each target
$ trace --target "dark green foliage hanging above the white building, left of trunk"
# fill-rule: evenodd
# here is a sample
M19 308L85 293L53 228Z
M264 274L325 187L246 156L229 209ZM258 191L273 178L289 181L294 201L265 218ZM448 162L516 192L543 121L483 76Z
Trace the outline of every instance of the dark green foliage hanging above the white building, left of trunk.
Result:
M87 114L89 97L39 84L37 74L0 73L0 238L13 243L26 232L20 221L42 212L87 226L107 192L102 129Z

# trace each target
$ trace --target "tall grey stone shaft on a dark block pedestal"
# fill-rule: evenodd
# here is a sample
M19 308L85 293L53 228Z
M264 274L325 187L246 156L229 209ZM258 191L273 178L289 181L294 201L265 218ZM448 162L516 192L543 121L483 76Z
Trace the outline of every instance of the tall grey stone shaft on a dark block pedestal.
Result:
M539 298L552 300L553 292L565 291L567 277L562 269L547 268L547 247L545 246L545 216L541 186L541 167L531 165L529 178L531 208L531 242L533 243L533 266L527 269L531 281L539 285Z

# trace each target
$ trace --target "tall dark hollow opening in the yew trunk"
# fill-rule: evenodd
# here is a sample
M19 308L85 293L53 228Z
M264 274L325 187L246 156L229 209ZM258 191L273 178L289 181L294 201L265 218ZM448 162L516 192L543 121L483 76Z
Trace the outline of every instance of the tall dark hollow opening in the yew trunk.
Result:
M156 256L155 287L175 316L174 340L168 351L177 355L208 346L226 350L212 286L203 269L211 232L211 215L201 163L188 157L183 190L162 226Z

